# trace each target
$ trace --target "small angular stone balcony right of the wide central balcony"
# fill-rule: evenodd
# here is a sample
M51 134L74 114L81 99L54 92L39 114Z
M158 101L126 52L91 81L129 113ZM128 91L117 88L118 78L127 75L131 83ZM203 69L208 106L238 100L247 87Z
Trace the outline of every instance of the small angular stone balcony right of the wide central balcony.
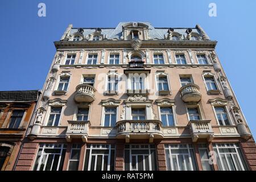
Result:
M188 126L191 131L193 142L196 142L197 139L207 139L208 142L210 142L214 138L210 120L191 120L189 121Z

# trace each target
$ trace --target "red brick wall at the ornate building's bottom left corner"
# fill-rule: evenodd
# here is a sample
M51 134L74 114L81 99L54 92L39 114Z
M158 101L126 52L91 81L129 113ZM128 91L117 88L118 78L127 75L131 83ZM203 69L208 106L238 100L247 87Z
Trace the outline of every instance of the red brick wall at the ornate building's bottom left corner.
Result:
M30 171L36 157L38 143L24 143L15 171Z

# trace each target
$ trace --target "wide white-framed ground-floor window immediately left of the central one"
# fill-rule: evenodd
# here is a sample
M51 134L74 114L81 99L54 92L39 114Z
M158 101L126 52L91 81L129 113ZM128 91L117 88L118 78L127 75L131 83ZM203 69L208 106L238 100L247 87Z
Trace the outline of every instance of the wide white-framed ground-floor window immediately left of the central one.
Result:
M114 144L88 144L86 146L85 171L114 171Z

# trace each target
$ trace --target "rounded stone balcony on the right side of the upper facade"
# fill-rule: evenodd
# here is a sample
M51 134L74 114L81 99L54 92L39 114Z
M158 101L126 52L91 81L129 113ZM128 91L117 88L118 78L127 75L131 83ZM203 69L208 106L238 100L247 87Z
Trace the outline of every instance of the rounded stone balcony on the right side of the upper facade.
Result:
M201 100L200 88L196 84L187 84L180 88L181 99L184 102L199 102Z

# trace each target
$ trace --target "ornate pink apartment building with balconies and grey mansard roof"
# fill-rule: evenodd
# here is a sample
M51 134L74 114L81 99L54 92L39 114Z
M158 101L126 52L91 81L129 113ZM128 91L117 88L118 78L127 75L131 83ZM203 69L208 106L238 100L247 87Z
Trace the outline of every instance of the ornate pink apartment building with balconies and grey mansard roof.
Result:
M199 25L69 25L14 170L255 170L216 44Z

